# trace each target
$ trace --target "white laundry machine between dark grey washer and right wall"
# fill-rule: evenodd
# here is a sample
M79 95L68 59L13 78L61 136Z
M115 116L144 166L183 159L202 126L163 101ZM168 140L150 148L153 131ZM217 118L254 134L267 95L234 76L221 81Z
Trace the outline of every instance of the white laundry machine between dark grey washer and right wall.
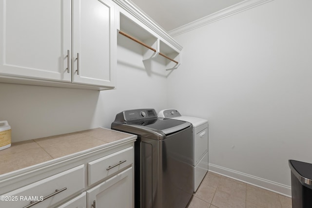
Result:
M182 116L175 109L162 110L158 113L158 117L187 121L193 125L193 171L195 192L208 171L208 120Z

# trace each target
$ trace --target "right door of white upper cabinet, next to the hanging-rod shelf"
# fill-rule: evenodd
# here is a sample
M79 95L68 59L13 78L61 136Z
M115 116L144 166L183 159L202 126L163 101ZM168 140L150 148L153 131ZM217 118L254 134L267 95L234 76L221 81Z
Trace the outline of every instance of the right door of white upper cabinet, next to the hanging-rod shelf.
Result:
M113 86L117 29L109 0L73 0L73 83Z

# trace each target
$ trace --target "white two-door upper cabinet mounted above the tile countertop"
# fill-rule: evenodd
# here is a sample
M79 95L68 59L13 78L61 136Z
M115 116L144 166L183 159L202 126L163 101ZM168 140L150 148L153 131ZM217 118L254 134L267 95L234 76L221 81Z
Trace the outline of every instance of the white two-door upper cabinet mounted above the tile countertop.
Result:
M0 77L114 87L112 1L0 0L0 11Z

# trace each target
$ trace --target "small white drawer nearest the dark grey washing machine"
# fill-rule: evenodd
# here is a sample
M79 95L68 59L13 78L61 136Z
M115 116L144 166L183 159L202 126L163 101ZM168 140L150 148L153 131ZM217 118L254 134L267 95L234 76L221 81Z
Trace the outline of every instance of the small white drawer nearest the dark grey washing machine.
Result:
M133 147L109 154L88 163L88 185L97 183L133 163Z

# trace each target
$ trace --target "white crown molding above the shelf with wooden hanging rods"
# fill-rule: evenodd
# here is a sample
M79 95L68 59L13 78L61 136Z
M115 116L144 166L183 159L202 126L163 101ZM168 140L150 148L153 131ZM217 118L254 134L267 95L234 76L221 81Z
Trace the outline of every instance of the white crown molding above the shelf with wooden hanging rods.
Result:
M161 28L154 20L138 8L131 0L113 0L122 9L133 15L139 21L143 22L148 28L153 30L159 37L167 41L177 50L181 51L183 47L176 42L163 28Z

